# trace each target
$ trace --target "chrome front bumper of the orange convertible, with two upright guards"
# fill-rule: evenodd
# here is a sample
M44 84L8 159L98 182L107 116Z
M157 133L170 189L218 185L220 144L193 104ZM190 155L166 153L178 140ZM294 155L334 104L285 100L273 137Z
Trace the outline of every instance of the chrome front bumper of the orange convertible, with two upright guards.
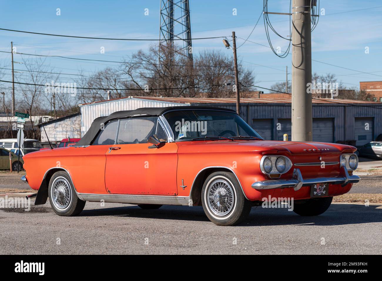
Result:
M319 177L315 179L303 179L300 169L295 168L293 170L293 179L290 180L264 180L260 182L254 182L252 188L256 190L273 189L273 188L286 188L293 187L295 191L299 190L305 185L314 184L341 184L345 186L349 183L359 182L358 175L349 175L345 167L341 166L341 171L344 176L340 177Z

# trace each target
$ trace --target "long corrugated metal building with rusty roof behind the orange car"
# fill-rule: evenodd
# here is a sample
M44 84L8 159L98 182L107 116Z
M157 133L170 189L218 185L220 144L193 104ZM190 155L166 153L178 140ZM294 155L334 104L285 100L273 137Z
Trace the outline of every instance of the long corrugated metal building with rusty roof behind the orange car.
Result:
M214 106L236 109L234 98L126 97L81 104L81 135L92 121L118 110L139 107ZM265 139L291 140L291 99L243 98L241 117ZM346 99L313 99L313 140L355 140L363 145L382 133L382 104Z

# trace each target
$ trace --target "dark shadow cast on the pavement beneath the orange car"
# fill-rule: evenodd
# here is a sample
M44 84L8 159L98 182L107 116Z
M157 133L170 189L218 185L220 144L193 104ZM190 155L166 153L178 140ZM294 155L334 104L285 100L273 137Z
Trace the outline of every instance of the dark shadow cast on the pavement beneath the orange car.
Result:
M287 209L264 209L253 207L246 221L238 226L277 226L277 225L311 225L340 226L345 224L381 223L380 205L364 206L359 204L332 204L319 216L304 217ZM143 210L138 206L123 206L84 210L79 216L122 216L134 218L172 219L184 221L209 222L201 206L162 206L157 210Z

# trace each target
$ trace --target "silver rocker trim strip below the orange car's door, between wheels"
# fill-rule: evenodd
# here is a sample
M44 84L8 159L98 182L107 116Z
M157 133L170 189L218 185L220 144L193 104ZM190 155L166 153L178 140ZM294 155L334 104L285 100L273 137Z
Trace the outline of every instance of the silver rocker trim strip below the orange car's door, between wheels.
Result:
M84 201L126 204L189 205L188 196L79 193Z

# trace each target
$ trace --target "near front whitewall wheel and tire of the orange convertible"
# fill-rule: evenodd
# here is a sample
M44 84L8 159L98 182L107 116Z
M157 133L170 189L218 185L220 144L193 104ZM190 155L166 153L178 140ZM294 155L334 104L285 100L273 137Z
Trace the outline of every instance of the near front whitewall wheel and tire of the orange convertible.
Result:
M240 184L231 172L214 172L204 182L202 205L214 224L233 226L247 218L251 201L245 198Z

